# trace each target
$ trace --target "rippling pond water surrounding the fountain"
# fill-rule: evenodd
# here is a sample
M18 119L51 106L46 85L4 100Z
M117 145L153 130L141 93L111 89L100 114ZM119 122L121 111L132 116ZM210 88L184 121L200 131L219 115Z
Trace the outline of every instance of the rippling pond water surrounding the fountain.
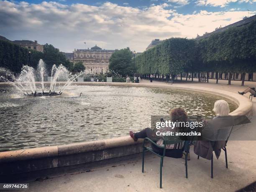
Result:
M75 85L60 96L26 97L0 87L0 151L128 135L150 127L151 115L168 115L174 107L211 118L218 99L173 89Z

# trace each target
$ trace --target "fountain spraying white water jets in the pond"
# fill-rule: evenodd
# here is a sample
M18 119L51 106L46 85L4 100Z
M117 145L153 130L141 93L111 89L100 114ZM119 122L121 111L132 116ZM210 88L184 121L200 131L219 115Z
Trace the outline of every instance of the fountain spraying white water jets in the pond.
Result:
M60 64L58 67L54 64L51 68L50 88L47 91L44 87L44 77L46 74L45 63L42 59L40 59L37 69L24 65L19 76L17 78L13 77L13 82L4 78L3 76L1 76L1 79L5 79L5 81L11 82L17 90L26 96L55 96L61 95L67 86L69 86L77 77L83 75L84 72L72 74L62 64ZM41 82L41 92L37 91L36 80ZM57 81L66 82L64 86L61 87L61 89L58 91L55 90Z

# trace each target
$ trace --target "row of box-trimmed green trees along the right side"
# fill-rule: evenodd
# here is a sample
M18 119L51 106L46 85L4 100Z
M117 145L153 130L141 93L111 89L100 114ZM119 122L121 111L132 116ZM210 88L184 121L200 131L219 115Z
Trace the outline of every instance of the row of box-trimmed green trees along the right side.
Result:
M170 38L136 57L136 68L141 74L154 74L169 80L178 74L215 72L228 74L256 72L256 21L246 26L229 28L201 40ZM182 76L181 76L182 77Z

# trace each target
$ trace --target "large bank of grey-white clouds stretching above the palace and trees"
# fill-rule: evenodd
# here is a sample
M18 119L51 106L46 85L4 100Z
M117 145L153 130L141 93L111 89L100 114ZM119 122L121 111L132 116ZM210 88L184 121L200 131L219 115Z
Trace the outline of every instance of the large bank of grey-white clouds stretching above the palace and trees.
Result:
M66 52L95 44L104 49L130 47L141 52L154 38L195 38L197 33L214 31L248 15L247 11L205 10L183 15L167 6L165 3L132 8L110 2L92 6L0 1L0 35L10 40L38 40Z

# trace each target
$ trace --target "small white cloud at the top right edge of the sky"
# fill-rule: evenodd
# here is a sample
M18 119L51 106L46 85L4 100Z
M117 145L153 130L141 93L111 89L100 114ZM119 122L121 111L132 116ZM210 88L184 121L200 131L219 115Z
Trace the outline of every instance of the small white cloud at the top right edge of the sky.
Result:
M225 7L229 3L232 2L238 2L238 3L253 3L256 2L256 0L197 0L195 3L199 6L220 6L220 7Z

